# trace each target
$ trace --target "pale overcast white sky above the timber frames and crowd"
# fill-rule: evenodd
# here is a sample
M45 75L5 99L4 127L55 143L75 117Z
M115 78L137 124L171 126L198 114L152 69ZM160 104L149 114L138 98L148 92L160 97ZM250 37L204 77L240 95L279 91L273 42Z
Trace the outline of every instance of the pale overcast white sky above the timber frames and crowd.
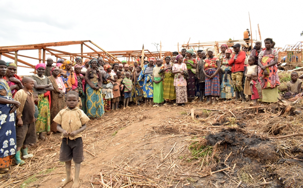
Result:
M302 0L0 0L0 46L91 40L107 51L140 50L142 44L156 51L151 43L162 41L162 51L176 51L177 43L190 37L190 43L243 39L249 11L253 38L259 24L263 40L271 37L276 47L284 47L303 41L301 7ZM79 47L57 49L80 52Z

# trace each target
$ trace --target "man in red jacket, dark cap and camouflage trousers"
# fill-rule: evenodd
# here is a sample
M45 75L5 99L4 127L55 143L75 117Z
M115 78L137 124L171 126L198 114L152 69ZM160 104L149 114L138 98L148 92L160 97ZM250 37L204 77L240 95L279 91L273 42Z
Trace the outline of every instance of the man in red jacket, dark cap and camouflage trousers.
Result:
M242 88L242 77L244 72L244 61L246 53L244 51L240 51L241 45L239 43L234 44L232 47L234 48L235 54L233 57L231 57L231 60L229 60L228 64L231 66L231 79L233 80L234 90L236 91L236 100L239 99L240 93L243 102L246 102Z

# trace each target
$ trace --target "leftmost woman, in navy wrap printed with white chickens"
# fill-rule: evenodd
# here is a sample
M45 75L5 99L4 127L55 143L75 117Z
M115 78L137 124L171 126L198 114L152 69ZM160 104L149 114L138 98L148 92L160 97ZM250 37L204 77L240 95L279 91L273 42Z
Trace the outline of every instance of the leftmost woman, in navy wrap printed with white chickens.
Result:
M7 70L5 61L0 60L0 169L9 170L12 156L15 155L16 163L20 160L20 151L16 152L16 109L20 102L14 101L8 83L3 79ZM20 164L21 165L21 164Z

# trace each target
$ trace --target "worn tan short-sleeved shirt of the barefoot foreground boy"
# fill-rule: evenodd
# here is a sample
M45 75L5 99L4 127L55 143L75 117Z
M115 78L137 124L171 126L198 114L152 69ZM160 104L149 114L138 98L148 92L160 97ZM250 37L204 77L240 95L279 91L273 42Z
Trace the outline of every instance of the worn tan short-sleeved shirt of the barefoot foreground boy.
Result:
M61 125L62 129L67 130L69 133L76 131L89 121L89 117L80 110L78 107L70 110L68 107L60 110L54 118L54 122ZM82 133L78 133L75 137L69 136L70 140L82 137ZM61 138L64 138L63 134Z

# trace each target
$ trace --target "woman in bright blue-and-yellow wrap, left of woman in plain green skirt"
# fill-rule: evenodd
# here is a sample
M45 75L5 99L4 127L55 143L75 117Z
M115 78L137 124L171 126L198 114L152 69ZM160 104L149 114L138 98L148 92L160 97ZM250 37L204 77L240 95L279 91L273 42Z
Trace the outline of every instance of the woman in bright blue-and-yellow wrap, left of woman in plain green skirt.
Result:
M143 67L143 70L141 70L141 73L138 77L138 83L139 81L143 81L143 97L145 97L145 105L147 105L147 100L150 100L150 106L152 105L153 102L153 67L155 65L155 59L149 58L149 63Z

